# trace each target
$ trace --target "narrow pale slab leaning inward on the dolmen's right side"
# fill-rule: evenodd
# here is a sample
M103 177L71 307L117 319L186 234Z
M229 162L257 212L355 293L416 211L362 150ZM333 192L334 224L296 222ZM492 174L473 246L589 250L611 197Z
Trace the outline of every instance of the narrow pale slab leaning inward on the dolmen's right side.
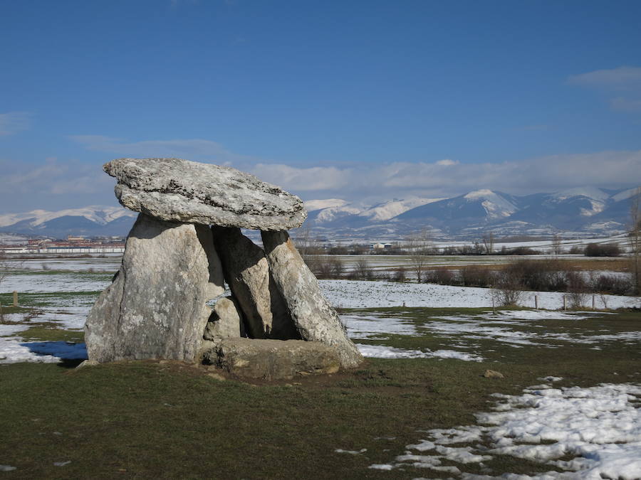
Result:
M285 299L301 338L333 346L338 351L341 366L357 366L363 356L348 338L338 314L323 297L318 280L303 262L288 233L261 232L261 235L276 287Z

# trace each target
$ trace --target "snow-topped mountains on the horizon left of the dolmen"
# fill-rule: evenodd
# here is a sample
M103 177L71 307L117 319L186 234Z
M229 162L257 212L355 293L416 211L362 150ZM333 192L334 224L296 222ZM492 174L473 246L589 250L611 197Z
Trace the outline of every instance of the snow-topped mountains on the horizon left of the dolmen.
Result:
M111 206L31 210L0 215L0 230L56 238L67 235L127 235L136 216L136 212Z

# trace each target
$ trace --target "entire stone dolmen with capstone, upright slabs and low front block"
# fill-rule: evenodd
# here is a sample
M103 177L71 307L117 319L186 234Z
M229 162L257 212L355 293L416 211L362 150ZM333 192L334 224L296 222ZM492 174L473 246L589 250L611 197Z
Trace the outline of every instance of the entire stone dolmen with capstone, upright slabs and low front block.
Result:
M91 361L207 363L267 379L363 361L289 238L307 216L300 198L182 159L116 159L103 169L118 180L118 201L140 213L85 324ZM261 230L263 247L241 228Z

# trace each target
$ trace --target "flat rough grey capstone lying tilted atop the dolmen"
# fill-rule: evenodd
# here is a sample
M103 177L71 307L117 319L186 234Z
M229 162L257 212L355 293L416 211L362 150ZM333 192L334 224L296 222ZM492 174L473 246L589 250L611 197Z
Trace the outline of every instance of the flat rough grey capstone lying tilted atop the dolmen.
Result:
M307 216L297 196L229 166L182 159L116 159L123 206L162 220L258 230L287 230Z

